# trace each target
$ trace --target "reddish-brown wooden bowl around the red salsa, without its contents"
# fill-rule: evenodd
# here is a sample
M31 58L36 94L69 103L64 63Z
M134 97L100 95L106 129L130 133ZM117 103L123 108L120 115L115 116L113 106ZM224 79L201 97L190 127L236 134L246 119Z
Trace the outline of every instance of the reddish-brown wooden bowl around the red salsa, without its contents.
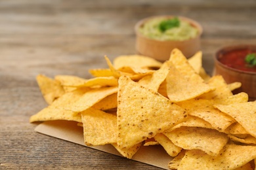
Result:
M256 52L256 45L236 45L221 48L215 54L215 69L213 75L222 75L227 83L241 82L242 87L236 90L235 93L245 92L249 95L249 101L254 101L256 99L256 72L234 69L220 61L225 54L234 52L234 50L250 50L251 52Z

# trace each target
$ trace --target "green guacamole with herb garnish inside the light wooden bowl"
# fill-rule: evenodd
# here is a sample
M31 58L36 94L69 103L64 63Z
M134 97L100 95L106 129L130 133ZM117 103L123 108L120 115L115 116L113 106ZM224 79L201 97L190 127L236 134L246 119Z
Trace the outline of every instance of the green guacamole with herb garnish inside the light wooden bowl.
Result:
M169 27L167 25L167 29L162 29L161 26L166 22L171 22L173 25ZM196 27L193 27L188 22L180 20L179 18L153 18L145 22L144 25L140 27L139 31L142 35L150 39L160 41L184 41L196 37L199 33Z

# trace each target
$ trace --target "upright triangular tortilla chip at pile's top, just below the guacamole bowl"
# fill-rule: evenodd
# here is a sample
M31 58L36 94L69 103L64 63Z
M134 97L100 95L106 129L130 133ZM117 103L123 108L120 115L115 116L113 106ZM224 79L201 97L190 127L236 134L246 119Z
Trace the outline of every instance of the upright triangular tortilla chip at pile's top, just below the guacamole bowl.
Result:
M191 67L189 64L188 66ZM181 69L180 66L179 69ZM179 69L176 68L176 65L172 64L171 70L166 77L167 95L171 101L185 101L212 90L211 86L203 82L203 79L196 72L184 72Z

